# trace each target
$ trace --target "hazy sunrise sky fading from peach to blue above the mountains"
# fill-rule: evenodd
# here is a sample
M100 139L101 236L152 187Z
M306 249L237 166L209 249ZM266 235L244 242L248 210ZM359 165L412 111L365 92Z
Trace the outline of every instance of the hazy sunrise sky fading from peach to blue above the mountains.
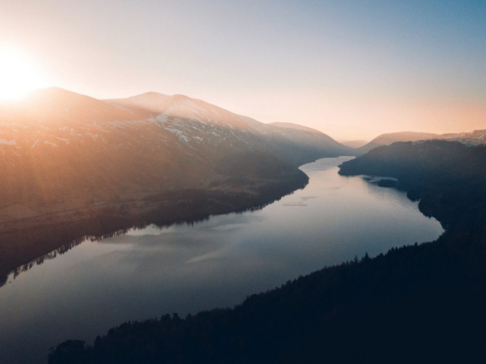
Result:
M338 140L486 129L480 0L0 0L2 49L45 86L184 94Z

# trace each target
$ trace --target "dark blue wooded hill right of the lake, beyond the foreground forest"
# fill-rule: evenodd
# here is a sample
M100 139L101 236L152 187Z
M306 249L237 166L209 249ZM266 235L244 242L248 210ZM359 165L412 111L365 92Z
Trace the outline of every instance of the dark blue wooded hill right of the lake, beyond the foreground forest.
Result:
M339 173L397 178L396 187L419 200L419 209L448 230L486 226L484 145L446 140L396 142L344 162Z

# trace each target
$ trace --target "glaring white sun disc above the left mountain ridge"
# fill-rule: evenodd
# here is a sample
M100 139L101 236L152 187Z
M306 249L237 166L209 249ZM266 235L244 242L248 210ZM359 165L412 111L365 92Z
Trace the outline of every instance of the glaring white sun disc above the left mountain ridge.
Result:
M43 87L41 74L19 52L0 49L0 101L11 101Z

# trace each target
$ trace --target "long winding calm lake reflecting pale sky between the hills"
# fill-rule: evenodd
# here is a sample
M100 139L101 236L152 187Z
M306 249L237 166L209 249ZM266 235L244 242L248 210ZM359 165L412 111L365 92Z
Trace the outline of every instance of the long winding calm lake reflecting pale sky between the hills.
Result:
M0 362L44 362L66 339L92 343L128 320L231 307L326 265L435 240L440 224L402 192L301 169L308 186L262 210L87 241L0 288Z

